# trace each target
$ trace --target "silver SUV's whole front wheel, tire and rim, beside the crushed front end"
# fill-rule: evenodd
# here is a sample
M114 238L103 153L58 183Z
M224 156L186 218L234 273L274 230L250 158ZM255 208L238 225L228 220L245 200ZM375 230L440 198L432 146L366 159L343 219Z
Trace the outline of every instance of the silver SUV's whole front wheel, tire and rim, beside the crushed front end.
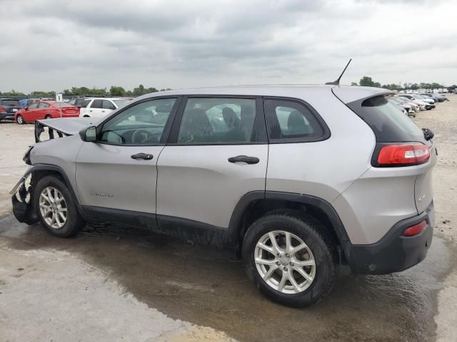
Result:
M58 177L41 178L34 189L34 205L41 225L56 237L71 237L84 227L71 192Z

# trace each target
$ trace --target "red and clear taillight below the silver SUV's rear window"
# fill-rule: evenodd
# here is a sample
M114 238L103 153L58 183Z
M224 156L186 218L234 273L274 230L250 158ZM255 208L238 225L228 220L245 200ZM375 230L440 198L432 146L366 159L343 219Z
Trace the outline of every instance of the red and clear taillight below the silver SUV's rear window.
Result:
M415 145L386 145L378 155L379 165L418 165L430 158L428 147L423 144Z

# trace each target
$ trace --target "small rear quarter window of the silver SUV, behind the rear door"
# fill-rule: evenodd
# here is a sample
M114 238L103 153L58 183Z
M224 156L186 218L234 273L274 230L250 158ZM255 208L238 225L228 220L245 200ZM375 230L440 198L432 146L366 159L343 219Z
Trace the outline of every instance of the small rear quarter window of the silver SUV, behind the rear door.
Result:
M323 137L321 123L306 105L292 100L266 99L264 103L271 141L313 141Z

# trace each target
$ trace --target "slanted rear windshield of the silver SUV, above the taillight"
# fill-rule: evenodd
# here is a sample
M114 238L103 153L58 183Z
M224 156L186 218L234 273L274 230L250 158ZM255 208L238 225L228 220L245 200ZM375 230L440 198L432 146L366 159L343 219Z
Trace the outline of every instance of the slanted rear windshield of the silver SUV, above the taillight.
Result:
M348 103L348 107L371 127L377 142L425 142L422 130L383 95Z

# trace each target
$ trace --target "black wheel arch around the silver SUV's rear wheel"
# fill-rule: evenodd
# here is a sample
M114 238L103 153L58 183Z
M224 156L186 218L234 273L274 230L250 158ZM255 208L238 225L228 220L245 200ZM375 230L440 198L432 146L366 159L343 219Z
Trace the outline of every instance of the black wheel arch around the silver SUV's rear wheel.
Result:
M283 199L256 199L251 202L241 217L241 226L239 230L239 246L243 244L243 238L247 229L253 224L256 219L263 217L266 214L273 212L288 212L293 216L300 217L301 213L306 213L313 218L317 219L324 227L327 237L336 247L336 250L341 250L341 241L336 232L328 214L323 209L316 207L313 204L303 204L301 202L287 201ZM340 258L343 258L343 253L340 253Z

